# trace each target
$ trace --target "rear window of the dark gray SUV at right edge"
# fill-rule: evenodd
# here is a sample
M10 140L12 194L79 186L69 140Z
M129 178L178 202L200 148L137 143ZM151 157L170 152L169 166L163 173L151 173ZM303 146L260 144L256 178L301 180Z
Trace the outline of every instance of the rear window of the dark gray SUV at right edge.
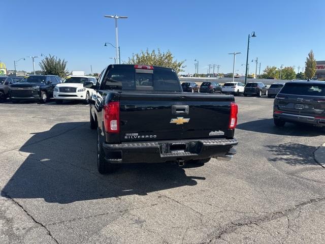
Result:
M325 84L285 83L280 93L290 95L325 96Z

